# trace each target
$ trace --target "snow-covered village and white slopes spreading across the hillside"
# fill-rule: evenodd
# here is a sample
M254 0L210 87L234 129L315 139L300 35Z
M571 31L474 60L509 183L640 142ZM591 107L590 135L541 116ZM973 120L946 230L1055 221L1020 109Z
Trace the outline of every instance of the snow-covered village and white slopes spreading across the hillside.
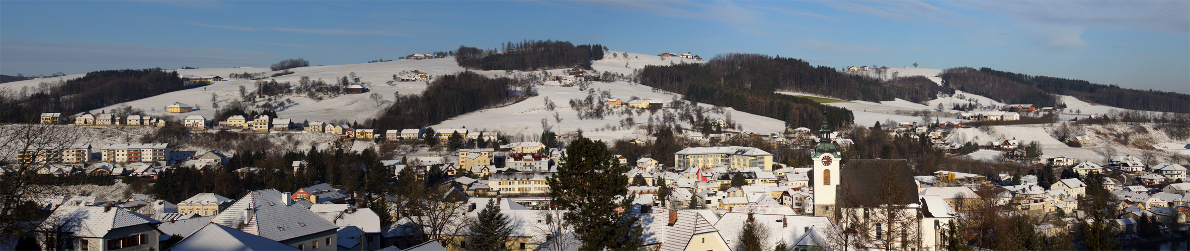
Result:
M436 125L383 131L346 112L384 105L364 94L425 88L419 86L436 74L453 70L439 65L450 56L369 63L403 67L392 77L393 71L363 77L384 81L351 77L338 94L318 101L263 89L236 95L233 89L252 82L186 76L209 86L125 103L130 108L42 113L35 124L5 125L62 140L5 134L36 144L6 146L11 159L0 171L62 186L129 187L118 195L68 190L30 200L45 220L23 241L45 250L469 250L478 236L469 228L478 225L472 220L493 209L507 215L508 249L575 250L582 245L580 230L559 224L572 208L557 206L551 181L575 164L568 163L568 146L588 139L602 140L596 144L608 149L615 175L628 180L615 211L638 220L641 232L633 238L641 243L632 246L638 250L739 250L754 228L765 231L758 240L765 250L948 250L956 238L972 238L964 231L991 232L1000 228L990 225L1009 220L1039 241L1102 228L1126 243L1185 238L1190 142L1167 137L1159 123L1130 121L1135 111L984 103L988 98L973 94L954 101L963 95L957 94L925 103L839 100L825 105L858 109L854 124L832 127L823 113L821 125L788 125L633 84L625 74L639 57L624 52L590 71L553 70L557 75L483 71L526 80L540 94ZM638 63L670 57L702 62L665 52ZM411 62L433 70L409 70ZM847 71L888 70L852 68ZM284 77L305 70L270 79L288 84ZM211 96L225 107L284 105L217 119L219 108L178 99L195 93L201 93L196 101ZM256 98L244 101L245 95ZM283 101L289 99L301 100ZM364 99L374 102L357 105ZM346 109L324 107L349 100ZM311 105L318 102L326 105ZM954 108L960 106L966 107ZM1088 114L1071 111L1079 108ZM99 132L125 140L100 140ZM872 140L889 149L915 145L903 151L982 169L926 170L921 159L865 153L877 151L863 150ZM286 150L273 150L278 145ZM332 171L340 169L350 172ZM190 172L195 176L177 176ZM182 187L155 193L170 186L165 181L224 174L252 184L228 189L236 195ZM331 178L336 175L339 180ZM308 176L326 178L269 187ZM425 186L384 190L368 183L381 181ZM132 188L146 182L155 188Z

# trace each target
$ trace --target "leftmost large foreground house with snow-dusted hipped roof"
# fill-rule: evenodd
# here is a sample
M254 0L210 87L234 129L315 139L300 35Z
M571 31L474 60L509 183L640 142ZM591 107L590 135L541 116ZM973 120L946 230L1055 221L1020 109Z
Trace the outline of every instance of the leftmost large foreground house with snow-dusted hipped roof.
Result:
M44 250L159 250L159 222L111 203L60 206L35 232Z

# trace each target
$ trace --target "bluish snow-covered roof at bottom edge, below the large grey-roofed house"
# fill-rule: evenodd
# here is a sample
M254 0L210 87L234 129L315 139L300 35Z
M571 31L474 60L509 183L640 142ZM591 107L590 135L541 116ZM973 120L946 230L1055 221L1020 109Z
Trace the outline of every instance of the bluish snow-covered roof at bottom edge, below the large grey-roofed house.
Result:
M252 236L219 224L207 224L169 250L298 250L296 247Z

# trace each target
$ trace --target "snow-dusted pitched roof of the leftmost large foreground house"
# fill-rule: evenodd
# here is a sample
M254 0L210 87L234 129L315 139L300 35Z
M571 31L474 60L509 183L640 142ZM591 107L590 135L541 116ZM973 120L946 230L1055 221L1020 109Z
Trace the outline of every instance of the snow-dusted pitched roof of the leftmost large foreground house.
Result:
M101 238L112 230L157 222L161 221L118 206L111 208L61 206L42 222L38 230L56 230L61 226L74 232L75 237Z

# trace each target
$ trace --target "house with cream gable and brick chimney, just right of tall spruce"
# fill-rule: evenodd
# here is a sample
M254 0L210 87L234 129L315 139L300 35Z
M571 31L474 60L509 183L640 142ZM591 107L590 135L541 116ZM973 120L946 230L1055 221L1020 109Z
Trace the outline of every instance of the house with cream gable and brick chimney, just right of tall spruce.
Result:
M640 250L658 251L731 251L714 226L719 221L714 213L706 211L679 211L651 205L633 205L631 214L640 219Z

